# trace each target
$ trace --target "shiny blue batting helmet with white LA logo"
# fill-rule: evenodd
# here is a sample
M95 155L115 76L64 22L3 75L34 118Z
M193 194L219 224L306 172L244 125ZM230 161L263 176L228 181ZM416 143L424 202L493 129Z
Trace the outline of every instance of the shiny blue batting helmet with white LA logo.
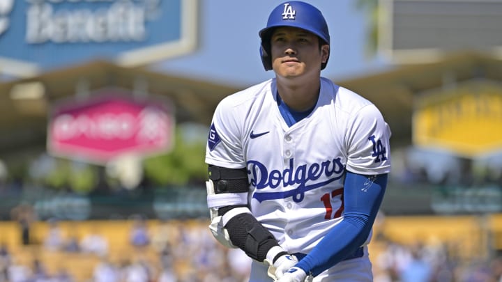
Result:
M320 10L302 1L284 2L272 10L272 13L268 16L266 28L259 31L261 38L260 56L265 70L272 70L270 39L273 30L279 26L304 29L319 36L327 45L330 44L328 24L326 24L326 19L324 19ZM326 63L328 63L327 60ZM321 70L326 68L326 63L322 63Z

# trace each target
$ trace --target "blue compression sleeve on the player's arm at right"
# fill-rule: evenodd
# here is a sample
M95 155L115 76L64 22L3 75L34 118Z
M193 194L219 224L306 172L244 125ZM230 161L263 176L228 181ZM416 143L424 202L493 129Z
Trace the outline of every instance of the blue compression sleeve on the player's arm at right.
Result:
M387 186L387 174L360 175L347 171L344 182L344 219L296 267L319 275L364 244Z

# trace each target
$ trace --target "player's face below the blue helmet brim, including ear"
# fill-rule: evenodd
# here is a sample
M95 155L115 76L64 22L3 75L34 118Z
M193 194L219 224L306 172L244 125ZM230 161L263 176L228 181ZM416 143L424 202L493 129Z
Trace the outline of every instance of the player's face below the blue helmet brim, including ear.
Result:
M272 68L280 77L319 75L328 52L328 45L319 49L319 38L303 29L280 27L271 36Z

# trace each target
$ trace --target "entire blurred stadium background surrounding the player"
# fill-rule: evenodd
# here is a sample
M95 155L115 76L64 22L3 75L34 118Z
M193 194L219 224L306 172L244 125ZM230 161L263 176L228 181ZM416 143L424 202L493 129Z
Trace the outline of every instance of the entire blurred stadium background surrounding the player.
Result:
M0 282L247 281L204 153L280 2L0 0ZM374 281L502 281L502 1L308 2L393 131Z

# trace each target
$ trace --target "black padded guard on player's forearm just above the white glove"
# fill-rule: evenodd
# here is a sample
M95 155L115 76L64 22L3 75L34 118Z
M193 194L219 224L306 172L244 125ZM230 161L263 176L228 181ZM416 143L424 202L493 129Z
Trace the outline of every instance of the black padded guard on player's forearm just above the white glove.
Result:
M275 237L252 214L238 214L225 226L232 244L242 249L250 258L260 262L273 246L279 246Z

